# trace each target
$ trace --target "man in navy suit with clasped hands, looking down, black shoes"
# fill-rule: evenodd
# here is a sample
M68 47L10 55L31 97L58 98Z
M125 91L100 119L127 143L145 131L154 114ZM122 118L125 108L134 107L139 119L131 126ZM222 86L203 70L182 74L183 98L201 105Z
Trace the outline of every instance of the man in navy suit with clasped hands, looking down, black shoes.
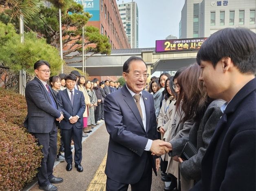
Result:
M67 171L72 170L71 137L75 144L75 167L82 172L82 134L83 134L83 114L85 102L83 92L75 89L76 77L73 74L65 76L66 90L57 94L57 101L63 112L64 120L60 122L64 141L65 160L68 163Z

